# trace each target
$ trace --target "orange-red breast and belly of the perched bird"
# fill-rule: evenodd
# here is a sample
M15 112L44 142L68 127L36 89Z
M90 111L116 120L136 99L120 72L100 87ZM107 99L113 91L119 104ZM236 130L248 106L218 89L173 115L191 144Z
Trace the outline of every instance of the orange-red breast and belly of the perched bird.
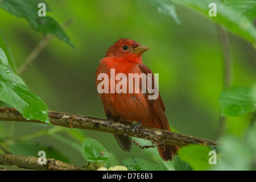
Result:
M119 118L120 121L138 122L145 115L150 115L146 96L141 92L141 85L135 86L135 82L129 84L129 73L140 74L137 64L114 59L101 61L96 72L96 85L100 83L97 81L100 73L108 75L108 93L101 93L100 98L109 117Z

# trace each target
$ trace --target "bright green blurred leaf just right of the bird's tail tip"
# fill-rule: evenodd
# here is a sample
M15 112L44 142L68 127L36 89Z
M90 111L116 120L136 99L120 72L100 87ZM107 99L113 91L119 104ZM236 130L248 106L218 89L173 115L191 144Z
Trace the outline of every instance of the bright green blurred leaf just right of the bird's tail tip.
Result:
M193 169L201 171L207 170L211 166L209 151L212 151L209 147L193 144L180 148L178 154L180 159L189 163Z

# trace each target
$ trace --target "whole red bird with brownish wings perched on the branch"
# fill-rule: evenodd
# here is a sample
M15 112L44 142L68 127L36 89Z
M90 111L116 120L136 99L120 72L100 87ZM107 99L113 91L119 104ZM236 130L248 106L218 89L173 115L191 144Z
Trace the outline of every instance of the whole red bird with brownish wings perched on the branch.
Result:
M114 69L115 75L118 73L124 73L127 78L129 73L148 73L152 74L152 71L142 63L142 53L149 48L143 46L134 40L119 39L117 42L110 46L106 55L100 60L96 72L96 85L102 81L98 79L100 73L106 73L108 75L108 93L100 93L100 99L105 109L106 116L110 119L109 123L113 120L137 122L133 131L138 132L139 126L155 127L163 130L170 130L168 120L164 111L163 100L159 94L155 100L148 100L148 92L146 93L130 93L127 86L126 93L110 92L110 88L118 84L117 79L111 81L110 69ZM115 78L115 77L114 77ZM123 81L119 79L120 81ZM128 80L128 79L127 79ZM140 82L139 90L142 91L142 82ZM154 75L152 75L152 85L154 86ZM104 85L106 86L106 85ZM147 90L148 91L148 90ZM124 151L130 151L131 138L123 135L114 135L119 146ZM175 155L178 146L159 145L159 155L163 160L171 160L172 155Z

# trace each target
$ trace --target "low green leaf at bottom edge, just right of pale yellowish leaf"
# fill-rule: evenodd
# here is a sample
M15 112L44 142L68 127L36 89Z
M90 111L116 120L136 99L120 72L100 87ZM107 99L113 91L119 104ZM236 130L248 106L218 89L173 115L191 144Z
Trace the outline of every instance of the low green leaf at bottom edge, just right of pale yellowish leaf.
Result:
M159 171L162 169L156 164L138 158L129 158L123 160L123 166L127 167L127 169L130 171Z

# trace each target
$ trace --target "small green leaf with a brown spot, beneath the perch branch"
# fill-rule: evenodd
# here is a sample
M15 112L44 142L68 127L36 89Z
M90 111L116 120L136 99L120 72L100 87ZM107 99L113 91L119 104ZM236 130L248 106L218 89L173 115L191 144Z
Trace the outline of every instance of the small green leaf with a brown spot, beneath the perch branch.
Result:
M92 138L86 138L82 142L82 156L88 162L105 163L109 159L109 153L104 146Z

